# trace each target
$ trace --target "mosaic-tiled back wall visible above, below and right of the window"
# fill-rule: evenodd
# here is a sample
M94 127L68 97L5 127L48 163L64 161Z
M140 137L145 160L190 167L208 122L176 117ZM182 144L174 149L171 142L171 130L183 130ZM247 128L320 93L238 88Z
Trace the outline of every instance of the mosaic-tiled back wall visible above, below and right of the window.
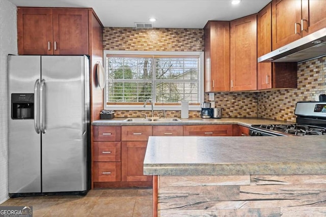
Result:
M104 50L134 51L204 51L204 30L184 28L117 28L104 27ZM205 94L208 101L208 94ZM253 92L215 94L216 107L223 116L256 117L257 95ZM116 117L141 117L150 111L115 111ZM156 116L159 111L154 112ZM180 111L167 111L168 117L180 117ZM189 117L200 117L200 111L189 111Z

